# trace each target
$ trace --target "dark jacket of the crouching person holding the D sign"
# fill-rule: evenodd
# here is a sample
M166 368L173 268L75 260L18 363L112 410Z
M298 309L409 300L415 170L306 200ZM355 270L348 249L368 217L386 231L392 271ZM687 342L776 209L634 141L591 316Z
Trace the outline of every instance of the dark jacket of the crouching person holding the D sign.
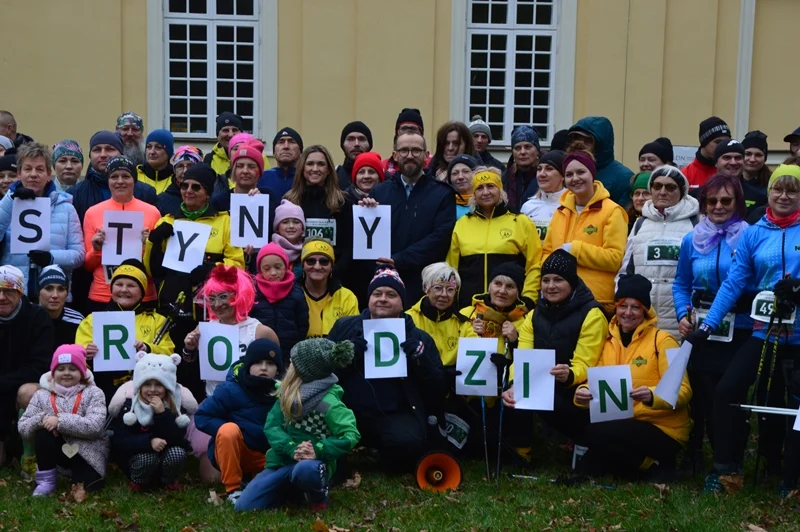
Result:
M370 319L369 310L358 316L339 318L328 339L333 342L364 337L364 320ZM364 351L356 347L353 362L336 372L339 385L344 390L342 400L359 416L382 417L393 412L413 413L423 426L428 416L444 419L444 399L447 393L442 360L436 343L425 331L418 329L408 314L406 340L422 342L424 349L419 359L408 360L408 378L368 381L364 378Z

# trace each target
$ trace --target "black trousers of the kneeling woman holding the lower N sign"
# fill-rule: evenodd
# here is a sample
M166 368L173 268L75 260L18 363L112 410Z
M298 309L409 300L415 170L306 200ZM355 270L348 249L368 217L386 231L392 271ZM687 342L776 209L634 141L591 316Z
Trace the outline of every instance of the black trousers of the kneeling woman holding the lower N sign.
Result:
M637 419L590 423L580 444L589 450L579 462L579 470L592 474L635 473L648 457L674 465L681 450L681 444L661 429Z

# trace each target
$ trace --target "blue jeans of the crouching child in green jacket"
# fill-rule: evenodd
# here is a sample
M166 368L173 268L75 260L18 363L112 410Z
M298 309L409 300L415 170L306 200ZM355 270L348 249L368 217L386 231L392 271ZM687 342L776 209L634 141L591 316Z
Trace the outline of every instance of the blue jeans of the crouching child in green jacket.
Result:
M236 511L279 508L292 488L303 492L311 504L328 501L328 468L319 460L302 460L279 469L265 469L236 501Z

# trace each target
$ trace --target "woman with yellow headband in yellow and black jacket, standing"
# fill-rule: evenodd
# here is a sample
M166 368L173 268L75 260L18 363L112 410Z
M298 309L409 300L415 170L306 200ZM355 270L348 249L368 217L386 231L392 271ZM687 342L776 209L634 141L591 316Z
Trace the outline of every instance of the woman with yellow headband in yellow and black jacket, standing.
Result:
M459 304L486 293L489 273L504 262L516 262L525 270L521 298L533 309L539 291L542 247L530 218L510 212L500 174L476 168L472 178L472 207L453 229L447 263L461 276Z

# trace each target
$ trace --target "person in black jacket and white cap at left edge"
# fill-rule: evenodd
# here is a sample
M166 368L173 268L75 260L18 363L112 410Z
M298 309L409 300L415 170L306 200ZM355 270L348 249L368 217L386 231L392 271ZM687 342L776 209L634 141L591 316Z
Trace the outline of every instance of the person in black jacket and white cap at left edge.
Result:
M53 357L53 322L24 295L19 268L0 266L0 464L18 409L26 408Z

